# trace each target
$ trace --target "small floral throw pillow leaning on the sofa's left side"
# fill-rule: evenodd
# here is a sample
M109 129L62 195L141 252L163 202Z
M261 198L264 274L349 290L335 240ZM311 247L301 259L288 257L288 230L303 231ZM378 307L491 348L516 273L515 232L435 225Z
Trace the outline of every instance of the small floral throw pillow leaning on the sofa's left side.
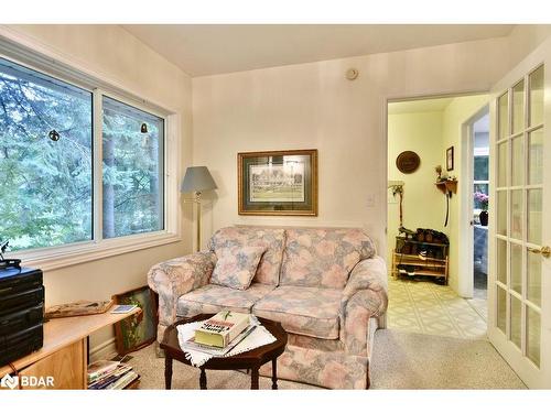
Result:
M264 253L263 247L220 248L216 251L216 267L210 284L247 290L257 273L257 267Z

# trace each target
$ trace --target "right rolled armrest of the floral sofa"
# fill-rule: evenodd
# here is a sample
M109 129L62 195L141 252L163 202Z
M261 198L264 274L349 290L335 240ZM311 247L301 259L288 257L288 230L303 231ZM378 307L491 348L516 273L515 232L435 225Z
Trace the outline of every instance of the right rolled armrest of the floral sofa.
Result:
M387 265L381 257L359 262L350 273L341 300L341 339L348 352L370 356L374 317L388 306Z

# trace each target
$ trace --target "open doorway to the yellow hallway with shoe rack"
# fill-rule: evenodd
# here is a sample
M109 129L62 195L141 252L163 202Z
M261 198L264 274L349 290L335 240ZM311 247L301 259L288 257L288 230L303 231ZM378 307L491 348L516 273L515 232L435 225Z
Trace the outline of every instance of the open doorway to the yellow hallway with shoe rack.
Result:
M462 127L480 108L486 108L487 113L487 95L389 102L387 260L390 328L486 339L486 320L458 291L460 215L465 211L455 185L465 171ZM419 156L419 165L413 171L398 167L397 160L403 152L414 152ZM450 187L444 185L447 183ZM469 196L473 196L473 185ZM404 237L410 237L412 242L401 249L399 244ZM471 276L474 285L473 272Z

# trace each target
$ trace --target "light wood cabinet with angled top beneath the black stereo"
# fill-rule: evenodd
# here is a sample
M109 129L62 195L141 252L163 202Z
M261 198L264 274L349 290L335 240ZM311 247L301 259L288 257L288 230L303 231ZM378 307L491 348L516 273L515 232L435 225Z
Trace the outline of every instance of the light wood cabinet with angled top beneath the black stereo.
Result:
M104 313L51 319L44 323L42 348L12 365L21 376L53 376L55 389L86 389L86 338L140 311L136 308L127 314ZM12 372L10 366L0 367L0 377Z

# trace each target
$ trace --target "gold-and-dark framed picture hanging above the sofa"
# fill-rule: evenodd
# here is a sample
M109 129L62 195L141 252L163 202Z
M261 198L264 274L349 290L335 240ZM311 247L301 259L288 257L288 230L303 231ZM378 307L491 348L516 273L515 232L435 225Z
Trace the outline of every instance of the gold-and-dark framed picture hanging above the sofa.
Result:
M239 152L239 215L317 216L317 150Z

